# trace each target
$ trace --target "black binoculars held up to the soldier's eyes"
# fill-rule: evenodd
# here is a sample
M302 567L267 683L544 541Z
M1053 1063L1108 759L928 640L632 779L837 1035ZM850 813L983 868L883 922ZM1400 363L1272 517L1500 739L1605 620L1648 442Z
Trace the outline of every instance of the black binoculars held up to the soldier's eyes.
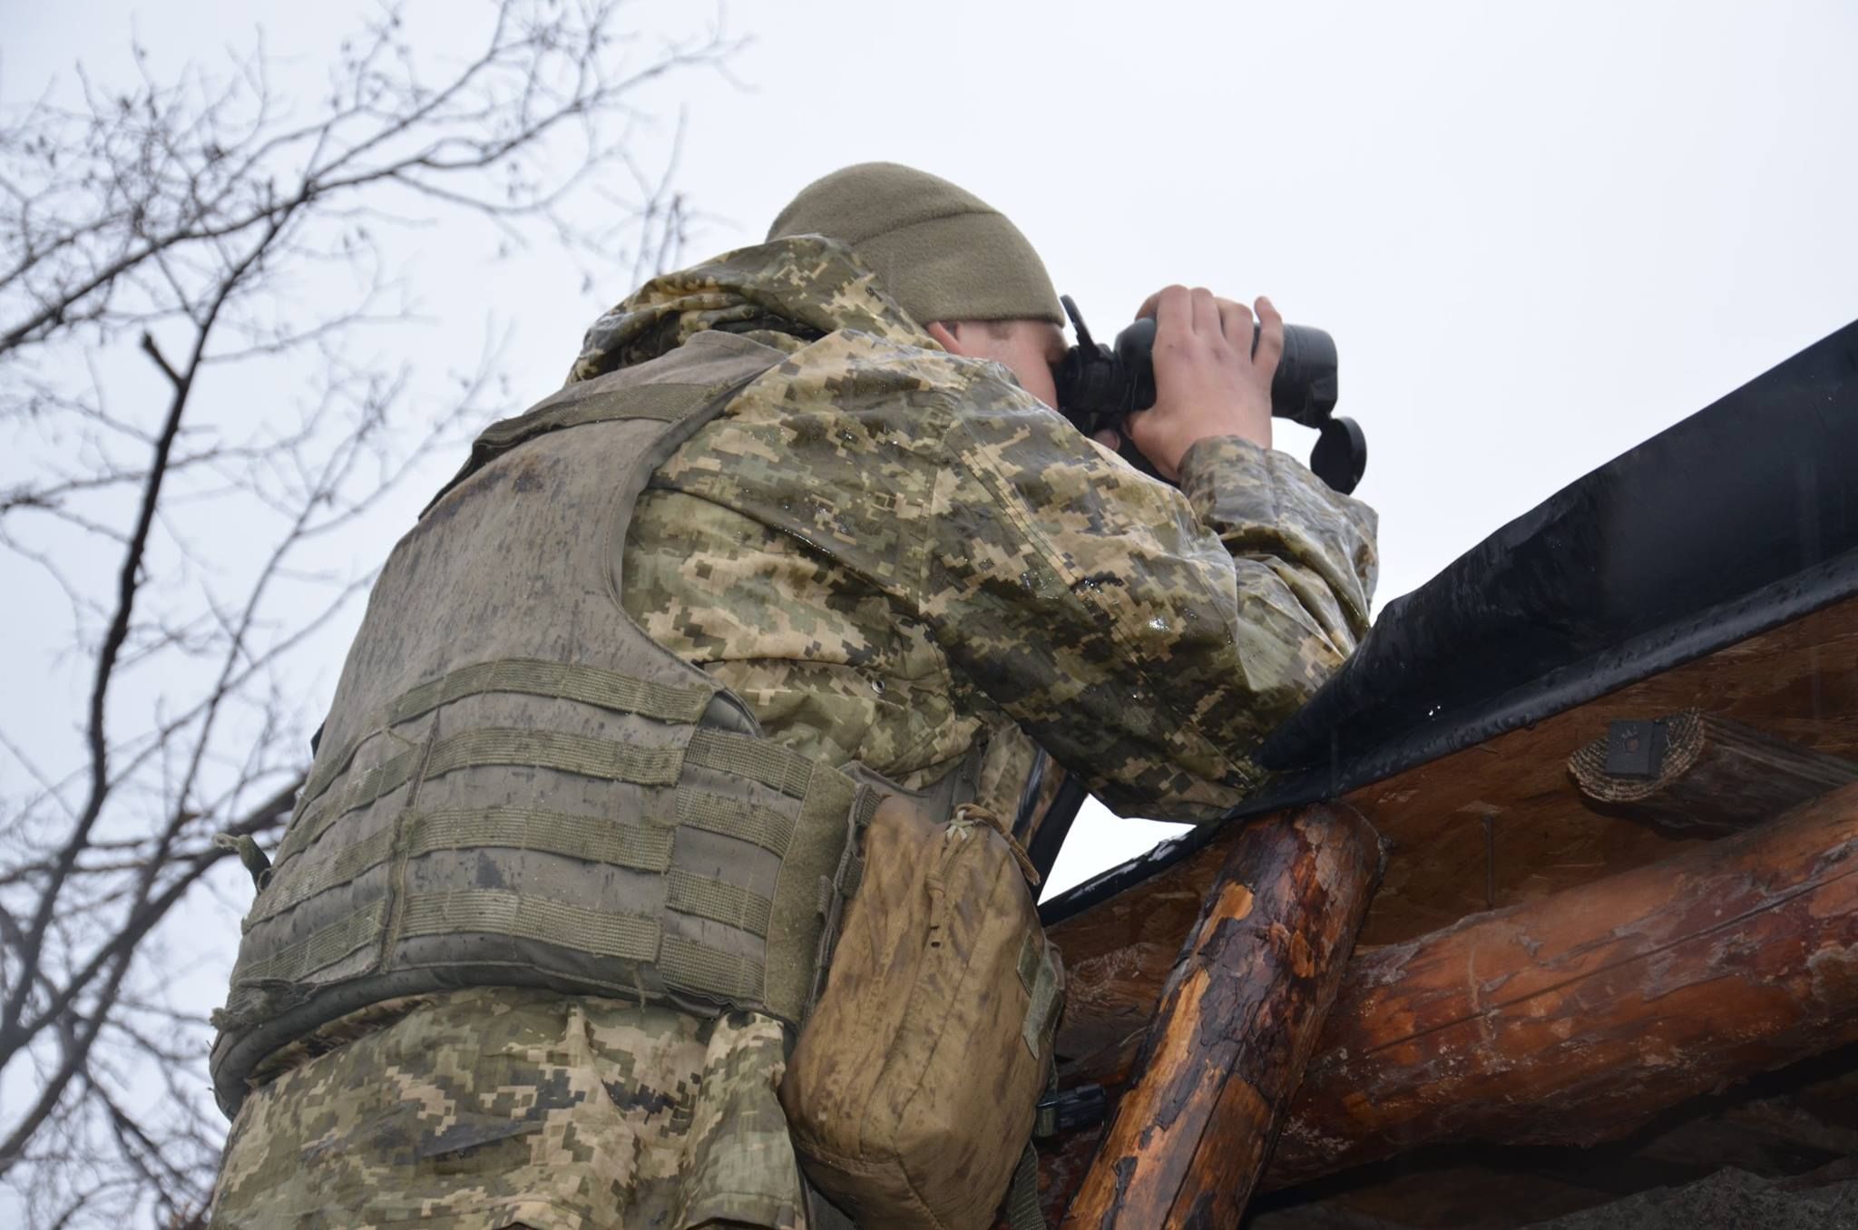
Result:
M1128 431L1122 431L1122 420L1156 403L1156 321L1137 320L1109 347L1091 338L1070 295L1061 295L1059 303L1078 329L1078 344L1052 368L1059 412L1085 435L1104 427L1117 429L1124 459L1154 474L1148 459L1130 442ZM1258 325L1252 325L1252 351L1256 349ZM1310 470L1349 494L1367 470L1367 437L1353 418L1330 414L1334 409L1336 340L1321 329L1284 325L1284 355L1271 377L1271 414L1321 433L1310 453Z

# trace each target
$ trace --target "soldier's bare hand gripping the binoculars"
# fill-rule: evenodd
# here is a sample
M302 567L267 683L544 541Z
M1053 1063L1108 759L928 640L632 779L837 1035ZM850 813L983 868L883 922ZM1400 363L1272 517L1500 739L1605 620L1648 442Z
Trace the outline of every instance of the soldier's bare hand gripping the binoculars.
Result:
M1284 318L1258 299L1252 312L1204 286L1169 286L1148 295L1137 318L1156 320L1156 403L1128 418L1135 448L1174 481L1180 459L1204 438L1236 435L1271 448L1271 375L1284 353Z

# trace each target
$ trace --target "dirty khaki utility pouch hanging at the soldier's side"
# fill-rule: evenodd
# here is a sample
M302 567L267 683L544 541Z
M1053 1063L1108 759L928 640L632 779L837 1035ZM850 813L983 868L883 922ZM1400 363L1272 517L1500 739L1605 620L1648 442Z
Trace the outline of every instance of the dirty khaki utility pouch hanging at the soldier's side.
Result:
M879 805L825 992L780 1083L806 1176L860 1226L992 1223L1063 1003L1035 879L985 808L940 825L907 799Z

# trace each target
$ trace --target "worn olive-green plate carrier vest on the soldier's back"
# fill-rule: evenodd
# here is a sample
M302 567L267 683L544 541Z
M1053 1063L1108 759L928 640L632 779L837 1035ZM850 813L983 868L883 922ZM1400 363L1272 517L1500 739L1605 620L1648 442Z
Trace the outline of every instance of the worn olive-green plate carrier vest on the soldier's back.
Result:
M780 359L702 333L570 385L479 435L396 544L216 1014L227 1115L279 1046L416 992L801 1022L877 793L762 738L619 600L652 470Z

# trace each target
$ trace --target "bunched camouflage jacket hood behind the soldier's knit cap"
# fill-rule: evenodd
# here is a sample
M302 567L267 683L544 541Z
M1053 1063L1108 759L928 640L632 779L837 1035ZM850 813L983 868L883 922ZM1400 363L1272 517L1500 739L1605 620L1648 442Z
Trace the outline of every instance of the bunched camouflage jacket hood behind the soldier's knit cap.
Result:
M569 383L658 359L704 329L786 351L838 329L940 349L849 247L803 234L654 277L587 329Z

